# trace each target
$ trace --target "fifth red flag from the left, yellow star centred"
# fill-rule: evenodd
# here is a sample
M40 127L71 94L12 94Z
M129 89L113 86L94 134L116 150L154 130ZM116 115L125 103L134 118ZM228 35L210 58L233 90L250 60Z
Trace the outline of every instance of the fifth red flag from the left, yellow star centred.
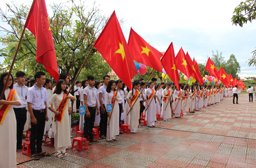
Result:
M189 59L191 59L189 57ZM191 74L194 73L193 67L191 64L189 64L189 60L183 51L182 47L179 50L178 54L176 55L175 61L176 61L176 67L178 70L180 70L184 75L186 75L188 78L191 77Z

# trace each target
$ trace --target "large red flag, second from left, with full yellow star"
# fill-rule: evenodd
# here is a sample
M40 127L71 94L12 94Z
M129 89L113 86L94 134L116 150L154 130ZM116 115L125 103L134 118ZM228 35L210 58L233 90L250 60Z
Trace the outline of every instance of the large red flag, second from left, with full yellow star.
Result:
M131 80L137 74L137 69L115 11L95 41L94 47L100 52L117 76L132 90Z

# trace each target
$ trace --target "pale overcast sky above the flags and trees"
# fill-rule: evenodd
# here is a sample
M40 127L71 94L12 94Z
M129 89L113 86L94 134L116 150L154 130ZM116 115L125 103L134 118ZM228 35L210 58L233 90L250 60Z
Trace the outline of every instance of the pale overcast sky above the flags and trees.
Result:
M212 50L222 52L225 60L234 54L241 66L239 77L255 77L255 67L249 67L246 61L256 47L256 21L244 24L243 28L231 23L234 8L241 1L96 0L96 5L100 5L102 14L109 16L115 10L117 17L124 19L126 41L132 27L157 50L166 51L173 42L175 54L182 46L184 52L188 51L192 59L195 57L200 63L206 61L207 55L212 55ZM45 2L50 4L52 0ZM87 2L89 7L93 5L93 1ZM1 0L3 10L5 3L10 3L10 0ZM17 3L31 5L32 0L19 0Z

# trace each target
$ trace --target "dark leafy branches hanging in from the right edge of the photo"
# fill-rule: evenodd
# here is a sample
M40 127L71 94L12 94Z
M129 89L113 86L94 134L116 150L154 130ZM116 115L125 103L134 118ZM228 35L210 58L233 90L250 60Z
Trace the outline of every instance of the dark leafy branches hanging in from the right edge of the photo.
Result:
M233 12L232 23L237 26L237 24L243 27L243 24L251 22L256 18L256 1L255 0L246 0L241 2ZM256 65L256 50L253 52L253 56L247 61L249 66Z

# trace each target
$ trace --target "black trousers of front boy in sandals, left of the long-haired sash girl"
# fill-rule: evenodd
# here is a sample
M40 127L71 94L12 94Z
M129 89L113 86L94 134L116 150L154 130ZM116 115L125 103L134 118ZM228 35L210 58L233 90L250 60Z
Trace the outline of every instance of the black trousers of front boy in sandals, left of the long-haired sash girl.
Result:
M33 114L37 119L37 124L33 124L31 122L31 136L30 136L30 150L31 155L35 154L35 142L37 141L37 153L42 152L42 139L44 136L44 127L45 127L45 115L46 112L43 113L35 112L33 110ZM30 116L31 119L31 116Z

